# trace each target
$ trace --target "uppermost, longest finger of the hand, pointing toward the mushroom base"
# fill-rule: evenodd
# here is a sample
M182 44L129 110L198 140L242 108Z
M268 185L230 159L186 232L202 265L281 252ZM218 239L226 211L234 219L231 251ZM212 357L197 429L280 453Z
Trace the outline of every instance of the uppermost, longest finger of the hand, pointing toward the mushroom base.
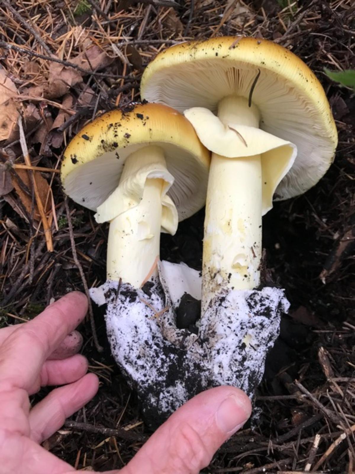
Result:
M69 293L10 334L0 348L2 380L9 387L33 386L44 361L84 319L87 308L84 294Z

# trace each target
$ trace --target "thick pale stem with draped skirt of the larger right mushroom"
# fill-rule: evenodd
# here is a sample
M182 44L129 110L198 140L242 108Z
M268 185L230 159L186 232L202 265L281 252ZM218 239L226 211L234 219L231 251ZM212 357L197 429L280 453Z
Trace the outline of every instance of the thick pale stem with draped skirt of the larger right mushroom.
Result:
M260 284L262 215L291 168L296 147L259 129L260 113L244 97L201 107L185 116L212 151L204 225L202 313L221 288Z

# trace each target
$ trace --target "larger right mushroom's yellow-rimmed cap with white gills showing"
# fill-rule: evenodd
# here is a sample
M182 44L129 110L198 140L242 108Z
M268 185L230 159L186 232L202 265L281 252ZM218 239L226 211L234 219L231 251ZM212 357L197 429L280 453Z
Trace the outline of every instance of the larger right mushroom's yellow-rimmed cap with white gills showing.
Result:
M332 163L337 129L326 94L314 73L288 49L265 39L225 36L181 43L160 53L145 69L143 99L183 112L204 107L217 113L223 97L249 98L260 128L296 145L293 167L275 198L302 194Z

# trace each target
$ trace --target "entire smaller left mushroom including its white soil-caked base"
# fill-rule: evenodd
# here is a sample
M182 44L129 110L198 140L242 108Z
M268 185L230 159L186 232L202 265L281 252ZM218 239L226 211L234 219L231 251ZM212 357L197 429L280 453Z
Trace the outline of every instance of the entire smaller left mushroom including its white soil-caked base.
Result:
M106 305L112 354L151 425L191 392L176 396L172 388L189 373L194 379L184 349L197 340L177 329L175 308L186 291L201 293L198 272L160 262L160 231L174 234L178 220L204 206L209 164L210 152L189 121L149 103L96 118L64 152L64 191L96 211L98 222L110 222L107 281L90 296ZM169 377L178 366L180 375Z

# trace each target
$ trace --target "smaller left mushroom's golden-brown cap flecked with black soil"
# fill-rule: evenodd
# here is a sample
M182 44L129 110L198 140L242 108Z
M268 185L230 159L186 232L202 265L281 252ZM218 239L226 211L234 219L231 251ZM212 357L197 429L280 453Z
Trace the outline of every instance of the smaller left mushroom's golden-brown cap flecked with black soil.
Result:
M126 158L144 146L160 146L175 181L169 196L179 220L204 206L210 152L189 121L170 107L137 104L113 110L86 125L64 152L61 178L73 201L97 210L118 186Z

